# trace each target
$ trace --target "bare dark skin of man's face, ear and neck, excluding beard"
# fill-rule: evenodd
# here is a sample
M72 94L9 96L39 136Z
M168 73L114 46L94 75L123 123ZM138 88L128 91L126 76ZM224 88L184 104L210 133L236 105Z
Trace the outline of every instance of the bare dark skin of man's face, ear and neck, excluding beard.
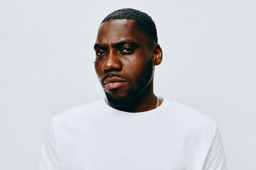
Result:
M95 52L95 71L100 81L108 74L120 76L102 81L103 90L113 98L126 96L129 89L138 89L137 81L142 79L146 64L152 60L152 77L133 99L134 102L122 107L107 104L133 113L156 108L154 67L161 64L162 50L159 44L149 44L149 38L137 28L136 21L116 19L102 23L97 33Z

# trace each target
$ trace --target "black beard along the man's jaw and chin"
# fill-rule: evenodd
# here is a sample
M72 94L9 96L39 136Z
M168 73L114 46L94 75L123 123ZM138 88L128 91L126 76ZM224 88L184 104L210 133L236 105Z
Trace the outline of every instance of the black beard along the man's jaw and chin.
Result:
M142 72L139 79L137 80L137 88L129 89L126 96L117 97L114 98L110 96L110 94L106 94L107 101L110 103L110 105L114 108L123 108L125 106L131 105L133 102L136 101L136 98L142 92L146 89L146 87L149 85L149 82L151 81L153 77L153 62L152 60L149 60L146 64L146 69Z

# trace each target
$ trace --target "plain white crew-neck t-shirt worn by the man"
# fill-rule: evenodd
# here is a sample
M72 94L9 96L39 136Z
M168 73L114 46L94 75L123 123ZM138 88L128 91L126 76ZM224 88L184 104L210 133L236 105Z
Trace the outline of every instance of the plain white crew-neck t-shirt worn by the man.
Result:
M127 113L104 99L56 115L38 170L224 170L215 121L164 99L158 108Z

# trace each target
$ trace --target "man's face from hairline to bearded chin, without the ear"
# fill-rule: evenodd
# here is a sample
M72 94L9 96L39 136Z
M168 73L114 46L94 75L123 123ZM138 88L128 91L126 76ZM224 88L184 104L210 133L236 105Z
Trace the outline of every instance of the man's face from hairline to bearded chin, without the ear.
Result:
M132 19L100 25L95 42L95 71L108 101L114 107L131 103L153 77L149 38Z

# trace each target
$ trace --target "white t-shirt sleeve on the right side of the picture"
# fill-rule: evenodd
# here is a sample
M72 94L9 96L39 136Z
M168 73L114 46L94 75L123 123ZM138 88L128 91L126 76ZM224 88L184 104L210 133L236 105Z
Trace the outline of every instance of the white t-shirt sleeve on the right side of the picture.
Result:
M203 170L227 170L223 142L217 126L215 127L215 137L206 157Z

